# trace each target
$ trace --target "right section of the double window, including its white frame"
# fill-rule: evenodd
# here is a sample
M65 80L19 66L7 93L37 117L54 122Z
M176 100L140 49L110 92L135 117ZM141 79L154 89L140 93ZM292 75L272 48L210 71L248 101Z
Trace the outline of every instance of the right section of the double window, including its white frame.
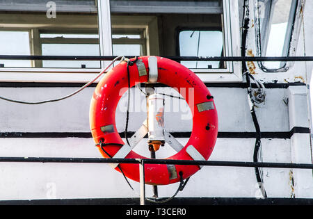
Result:
M234 9L232 22L230 8ZM239 24L236 24L239 20L236 20L238 9L235 8L238 8L236 3L228 0L111 0L113 33L117 29L127 33L143 28L143 40L137 39L133 47L126 41L115 45L113 36L113 54L114 50L127 52L131 49L136 56L239 56ZM181 63L204 81L222 81L226 77L230 81L241 81L239 63Z

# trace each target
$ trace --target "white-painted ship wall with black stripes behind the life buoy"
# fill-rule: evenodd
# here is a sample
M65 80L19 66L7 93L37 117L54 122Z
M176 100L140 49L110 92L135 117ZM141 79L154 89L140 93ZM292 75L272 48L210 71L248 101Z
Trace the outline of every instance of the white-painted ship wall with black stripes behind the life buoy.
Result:
M287 92L294 88L305 90L305 86L266 89L266 102L257 108L262 132L273 136L273 138L262 139L264 162L294 161L294 154L291 153L294 145L303 144L304 149L310 149L309 133L294 133L291 138L284 138L293 127L289 126L290 102L287 106L283 99L287 97ZM35 101L62 96L75 89L77 88L1 88L0 90L6 97ZM168 88L158 88L158 90L166 89ZM93 90L94 88L87 88L79 95L62 102L38 106L3 102L0 108L3 118L1 156L101 157L93 139L88 138L89 103ZM219 135L224 136L218 138L210 160L252 161L255 129L248 110L246 88L209 88L209 90L214 95L218 110ZM306 104L305 96L303 97L300 100L301 106ZM167 99L168 101L170 99ZM303 113L307 113L305 107L300 109L303 109ZM166 113L166 129L174 133L191 131L191 120L180 120L184 115L186 114ZM119 124L118 130L122 132L125 127L125 113L118 112L115 117ZM145 112L131 113L129 131L136 131L143 120L145 120ZM308 123L295 125L298 126L308 127ZM277 132L282 133L282 136L277 136ZM71 134L77 137L66 138ZM46 137L47 135L49 138ZM7 138L10 136L14 138ZM135 149L145 156L150 156L147 153L146 140L147 138L144 138ZM188 138L179 138L179 140L184 145ZM168 154L165 152L172 153L172 149L162 147L157 152L157 158L167 157ZM310 159L310 154L307 159ZM307 159L303 162L306 163ZM301 158L296 161L303 163ZM134 193L122 175L107 164L1 163L0 170L0 186L5 188L1 190L1 200L49 197L138 197L139 193L137 182L131 181L137 188L135 189L137 193ZM268 197L291 197L296 193L291 184L292 172L295 170L264 168L263 171ZM309 179L307 187L301 187L296 197L312 197L312 181L310 184L312 171L296 171L308 175L307 179ZM159 186L159 195L170 196L175 193L177 186L178 184ZM147 196L149 193L151 189L147 186ZM191 177L186 188L177 197L255 197L255 195L260 193L253 168L204 167Z

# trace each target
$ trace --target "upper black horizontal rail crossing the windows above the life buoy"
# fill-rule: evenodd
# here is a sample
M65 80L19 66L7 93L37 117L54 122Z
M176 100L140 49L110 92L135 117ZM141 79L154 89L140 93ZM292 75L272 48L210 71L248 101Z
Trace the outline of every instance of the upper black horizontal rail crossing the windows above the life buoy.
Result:
M0 60L113 60L118 56L19 56L19 55L0 55ZM134 56L125 56L133 58ZM313 56L163 56L175 61L292 61L306 62L313 61Z

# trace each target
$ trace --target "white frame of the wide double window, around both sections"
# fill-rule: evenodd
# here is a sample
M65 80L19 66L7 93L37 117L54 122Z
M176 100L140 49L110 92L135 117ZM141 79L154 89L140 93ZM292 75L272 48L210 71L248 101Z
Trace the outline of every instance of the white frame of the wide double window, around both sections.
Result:
M96 0L98 10L98 30L99 30L99 51L100 56L112 56L112 29L110 0ZM232 12L232 15L230 15ZM226 56L240 56L240 27L238 2L223 0L223 29L225 29L224 42ZM158 34L152 31L152 27L157 25L157 19L147 16L147 19L140 21L135 28L145 28L149 31L150 42L147 43L147 54L159 54L158 44L155 39ZM154 40L153 40L154 38ZM151 44L154 42L154 45ZM101 67L105 67L110 61L100 61ZM195 72L204 82L241 82L243 81L240 62L230 62L230 68L216 69L214 72ZM32 81L32 82L86 82L93 79L101 68L0 68L0 81ZM99 79L97 80L99 81Z

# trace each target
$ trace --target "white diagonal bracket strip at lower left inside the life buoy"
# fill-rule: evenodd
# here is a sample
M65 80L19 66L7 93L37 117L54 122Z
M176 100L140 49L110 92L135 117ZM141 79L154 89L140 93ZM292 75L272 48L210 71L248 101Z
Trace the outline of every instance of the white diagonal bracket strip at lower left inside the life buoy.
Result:
M131 136L131 138L129 138L129 145L123 145L116 154L114 154L113 158L125 158L125 156L127 156L127 154L129 154L129 152L131 152L132 149L134 149L134 147L136 145L138 145L138 143L141 141L141 139L143 139L145 137L145 135L147 134L147 120L145 120L145 122L143 122L143 125L136 131L136 133L134 133L133 136ZM118 166L118 163L110 163L111 167L113 169L115 169Z

